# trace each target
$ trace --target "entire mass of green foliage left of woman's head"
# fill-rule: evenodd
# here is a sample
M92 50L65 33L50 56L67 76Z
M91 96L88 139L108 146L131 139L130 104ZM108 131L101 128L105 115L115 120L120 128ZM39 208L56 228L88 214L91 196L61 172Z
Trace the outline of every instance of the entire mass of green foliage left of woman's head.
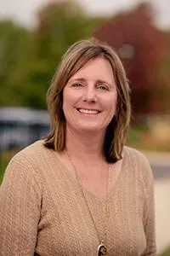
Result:
M48 3L37 20L32 31L0 21L0 107L46 108L48 86L65 49L89 38L101 22L71 1Z

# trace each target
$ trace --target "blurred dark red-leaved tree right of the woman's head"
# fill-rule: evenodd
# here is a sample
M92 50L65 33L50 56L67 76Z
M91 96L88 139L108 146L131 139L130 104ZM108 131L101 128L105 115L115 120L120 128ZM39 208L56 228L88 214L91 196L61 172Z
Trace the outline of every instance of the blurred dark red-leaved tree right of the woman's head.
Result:
M160 85L166 36L156 28L153 16L150 4L142 3L132 11L116 15L94 33L121 56L132 87L135 113L154 112L151 102L158 102L154 100L154 90Z

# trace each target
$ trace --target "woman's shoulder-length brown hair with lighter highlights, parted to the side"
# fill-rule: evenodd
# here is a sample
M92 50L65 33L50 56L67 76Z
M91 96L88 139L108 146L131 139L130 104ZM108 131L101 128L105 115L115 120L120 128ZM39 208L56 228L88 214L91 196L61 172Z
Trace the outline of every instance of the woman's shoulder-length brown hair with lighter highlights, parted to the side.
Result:
M130 89L122 61L107 44L95 38L82 40L73 44L63 55L59 67L48 89L47 103L51 118L50 132L44 145L56 151L65 149L65 114L63 112L63 90L65 84L89 60L103 57L111 63L116 81L117 105L116 115L111 120L105 133L103 152L108 162L122 158L122 148L127 139L127 130L131 117Z

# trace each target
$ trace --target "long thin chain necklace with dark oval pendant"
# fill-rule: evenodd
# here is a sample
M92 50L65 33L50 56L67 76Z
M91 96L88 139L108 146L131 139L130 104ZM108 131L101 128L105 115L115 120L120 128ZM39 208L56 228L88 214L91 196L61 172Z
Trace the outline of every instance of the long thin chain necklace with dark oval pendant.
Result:
M104 224L105 224L105 227L104 227L104 235L103 235L103 238L100 239L99 238L99 232L98 232L98 229L97 229L97 226L95 224L95 221L94 221L94 217L93 217L93 214L90 210L90 207L88 206L88 201L87 201L87 197L84 193L84 190L83 190L83 187L82 187L82 183L81 183L81 180L80 180L80 177L78 176L78 172L77 172L77 168L73 162L73 160L71 159L71 155L69 154L69 152L67 150L65 150L66 154L67 154L67 157L68 159L70 160L71 162L71 165L74 169L74 172L76 174L76 177L77 177L77 182L79 183L79 186L80 186L80 189L82 191L82 197L83 197L83 200L85 201L85 204L86 204L86 207L88 208L88 212L89 212L89 215L90 215L90 218L92 219L92 222L94 224L94 229L96 231L96 234L98 236L98 239L99 239L99 246L97 248L97 256L102 256L102 255L106 255L107 254L107 249L105 247L105 242L104 242L104 238L106 237L106 234L107 234L107 229L106 229L106 220L109 218L109 190L110 190L110 186L111 186L111 167L110 165L108 164L108 172L107 172L107 184L106 184L106 199L105 199L105 221L104 221Z

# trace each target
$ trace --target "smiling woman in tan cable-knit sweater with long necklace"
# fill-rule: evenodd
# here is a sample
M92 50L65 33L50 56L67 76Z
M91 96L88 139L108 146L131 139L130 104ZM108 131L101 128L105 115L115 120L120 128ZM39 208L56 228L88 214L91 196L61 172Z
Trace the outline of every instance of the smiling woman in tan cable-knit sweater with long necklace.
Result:
M150 165L124 146L122 62L107 45L67 50L48 90L51 130L8 164L0 255L156 255Z

